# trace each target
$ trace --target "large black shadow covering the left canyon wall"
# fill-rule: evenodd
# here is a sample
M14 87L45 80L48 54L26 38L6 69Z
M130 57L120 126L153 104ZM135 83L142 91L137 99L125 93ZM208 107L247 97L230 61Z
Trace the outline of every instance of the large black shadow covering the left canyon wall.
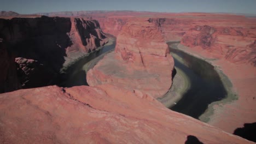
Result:
M70 19L13 18L0 19L0 24L0 55L7 66L1 65L0 93L49 85L65 62L66 47L72 45L67 35Z

